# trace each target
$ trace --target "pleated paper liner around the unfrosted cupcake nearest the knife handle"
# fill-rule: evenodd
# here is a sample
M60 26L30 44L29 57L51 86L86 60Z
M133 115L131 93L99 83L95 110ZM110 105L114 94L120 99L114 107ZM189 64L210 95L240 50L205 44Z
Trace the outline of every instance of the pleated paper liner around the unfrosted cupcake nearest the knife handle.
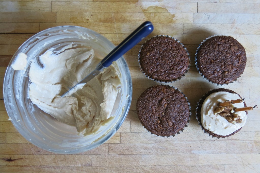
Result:
M180 41L178 41L177 39L175 39L174 37L171 37L171 36L169 36L169 35L156 35L156 36L153 36L152 38L154 38L154 37L170 37L170 38L172 38L173 40L177 41L177 42L184 48L184 50L186 51L186 53L187 53L187 55L188 55L188 57L189 57L189 65L188 65L188 68L187 68L186 72L185 72L183 75L181 75L181 76L178 77L177 79L169 80L169 81L157 80L157 79L152 78L152 77L149 76L148 74L146 74L146 73L143 71L142 66L141 66L141 63L140 63L140 53L141 53L142 47L144 46L144 44L145 44L148 40L151 39L151 38L150 38L150 39L148 39L148 40L145 41L145 43L141 46L141 49L139 50L139 54L138 54L138 64L139 64L139 67L140 67L140 71L142 71L142 73L143 73L148 79L151 79L151 80L153 80L153 81L156 81L156 82L158 82L158 83L160 83L160 84L161 84L161 83L166 84L167 82L175 82L175 81L180 80L183 76L185 76L185 74L186 74L186 73L189 71L189 69L190 69L191 60L190 60L190 54L189 54L188 50L184 47L184 45L183 45Z

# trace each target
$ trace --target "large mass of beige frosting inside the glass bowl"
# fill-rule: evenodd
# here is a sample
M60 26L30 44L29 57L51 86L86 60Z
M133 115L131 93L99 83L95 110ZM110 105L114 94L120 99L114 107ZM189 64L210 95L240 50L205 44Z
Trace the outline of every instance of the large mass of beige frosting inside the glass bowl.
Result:
M29 98L42 111L84 135L110 119L121 87L121 73L114 63L73 95L60 97L92 72L100 59L92 48L72 44L60 51L51 48L38 58L43 68L36 60L30 65Z

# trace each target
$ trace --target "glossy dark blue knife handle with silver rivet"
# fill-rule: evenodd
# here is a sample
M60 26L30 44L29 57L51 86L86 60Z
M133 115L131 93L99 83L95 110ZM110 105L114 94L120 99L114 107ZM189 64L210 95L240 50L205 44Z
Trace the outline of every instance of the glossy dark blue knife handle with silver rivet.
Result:
M118 60L128 50L132 49L137 43L144 39L153 31L153 24L149 21L142 23L129 36L126 37L118 46L116 46L104 59L101 64L109 67L112 62Z

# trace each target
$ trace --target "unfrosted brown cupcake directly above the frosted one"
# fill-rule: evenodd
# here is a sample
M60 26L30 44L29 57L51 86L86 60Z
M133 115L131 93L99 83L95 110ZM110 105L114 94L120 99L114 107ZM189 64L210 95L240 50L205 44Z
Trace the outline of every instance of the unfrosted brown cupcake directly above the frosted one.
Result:
M246 53L233 37L212 36L199 45L195 61L204 78L223 85L236 81L244 72Z

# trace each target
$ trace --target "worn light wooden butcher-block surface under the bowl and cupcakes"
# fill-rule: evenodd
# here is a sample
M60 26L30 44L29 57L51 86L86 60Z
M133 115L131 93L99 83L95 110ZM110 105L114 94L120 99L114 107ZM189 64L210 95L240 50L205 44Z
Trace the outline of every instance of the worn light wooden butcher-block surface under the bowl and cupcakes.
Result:
M18 47L34 34L59 25L92 29L119 44L142 22L154 31L128 51L133 97L126 120L105 144L75 155L42 150L8 120L3 100L6 67ZM0 172L260 172L260 110L249 111L241 131L225 139L211 138L195 118L198 100L220 88L198 73L198 45L214 34L228 34L245 48L244 73L222 86L249 106L260 105L260 1L258 0L0 0ZM190 53L191 67L181 80L168 83L189 99L191 121L180 134L160 138L148 133L136 115L136 100L157 83L140 72L138 52L149 37L165 34L181 41Z

